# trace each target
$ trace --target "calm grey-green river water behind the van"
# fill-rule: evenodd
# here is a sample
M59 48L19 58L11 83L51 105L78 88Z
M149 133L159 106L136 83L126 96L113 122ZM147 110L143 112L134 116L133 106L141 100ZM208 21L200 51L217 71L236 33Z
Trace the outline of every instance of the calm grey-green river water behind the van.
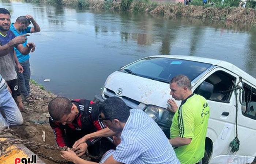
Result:
M246 24L163 18L27 3L1 3L12 22L31 14L33 79L55 94L92 99L110 73L144 56L171 54L226 60L256 77L256 29ZM50 82L43 82L50 79Z

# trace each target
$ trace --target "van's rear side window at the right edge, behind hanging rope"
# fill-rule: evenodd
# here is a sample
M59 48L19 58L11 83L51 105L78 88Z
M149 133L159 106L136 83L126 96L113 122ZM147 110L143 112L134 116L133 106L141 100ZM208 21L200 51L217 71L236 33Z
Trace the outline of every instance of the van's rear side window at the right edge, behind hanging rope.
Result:
M256 89L243 84L244 102L242 103L242 113L244 116L256 120Z

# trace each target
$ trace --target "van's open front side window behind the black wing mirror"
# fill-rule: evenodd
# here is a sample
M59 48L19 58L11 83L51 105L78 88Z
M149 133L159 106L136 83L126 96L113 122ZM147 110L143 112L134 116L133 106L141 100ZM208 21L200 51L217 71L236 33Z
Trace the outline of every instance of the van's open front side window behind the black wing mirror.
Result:
M210 75L205 79L205 82L211 83L214 87L213 93L208 100L229 103L231 94L233 93L231 90L234 87L233 81L235 82L236 78L224 71L216 71ZM198 89L199 87L197 87L194 93L197 93Z

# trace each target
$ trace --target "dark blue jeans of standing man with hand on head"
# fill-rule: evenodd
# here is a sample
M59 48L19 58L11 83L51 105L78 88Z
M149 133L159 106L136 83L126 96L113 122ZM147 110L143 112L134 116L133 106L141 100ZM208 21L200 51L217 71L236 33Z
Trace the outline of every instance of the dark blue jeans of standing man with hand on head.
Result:
M20 93L23 94L24 97L27 97L30 94L30 86L29 86L30 63L29 63L29 59L27 59L25 62L21 62L20 65L24 69L23 73L17 73L18 74L18 83L20 86Z

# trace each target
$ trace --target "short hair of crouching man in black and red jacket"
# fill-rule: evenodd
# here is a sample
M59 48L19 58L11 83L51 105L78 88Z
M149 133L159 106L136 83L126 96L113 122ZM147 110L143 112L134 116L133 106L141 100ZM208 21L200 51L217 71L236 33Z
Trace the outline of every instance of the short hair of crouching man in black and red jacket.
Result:
M65 97L56 97L49 102L48 110L55 121L60 121L64 115L71 112L72 102Z

